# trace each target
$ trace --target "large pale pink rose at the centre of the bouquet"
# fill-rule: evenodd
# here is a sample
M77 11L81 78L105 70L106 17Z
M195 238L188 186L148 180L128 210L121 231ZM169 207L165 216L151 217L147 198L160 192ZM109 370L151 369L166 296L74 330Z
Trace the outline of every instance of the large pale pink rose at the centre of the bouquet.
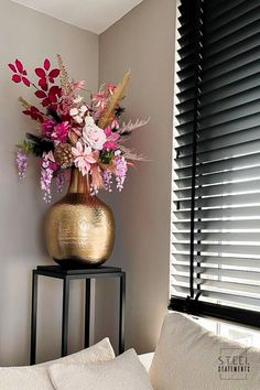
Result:
M85 128L83 129L83 139L84 141L96 150L101 150L104 143L107 141L105 131L100 129L91 117L86 117Z

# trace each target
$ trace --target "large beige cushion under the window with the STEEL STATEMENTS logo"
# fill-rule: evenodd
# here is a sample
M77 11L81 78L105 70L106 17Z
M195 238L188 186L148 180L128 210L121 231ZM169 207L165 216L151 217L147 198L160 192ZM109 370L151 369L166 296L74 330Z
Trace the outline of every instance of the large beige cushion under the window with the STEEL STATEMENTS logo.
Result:
M150 379L155 390L259 390L260 350L172 313L164 319Z

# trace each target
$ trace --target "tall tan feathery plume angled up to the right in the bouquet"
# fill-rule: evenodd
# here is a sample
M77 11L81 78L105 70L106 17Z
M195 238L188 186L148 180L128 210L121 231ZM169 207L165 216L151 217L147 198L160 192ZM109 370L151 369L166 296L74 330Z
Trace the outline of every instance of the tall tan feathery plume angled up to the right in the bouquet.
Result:
M110 123L115 109L117 108L117 106L120 104L120 101L126 95L129 80L130 80L130 71L126 73L122 82L117 86L113 95L110 97L108 107L106 108L105 112L102 113L101 118L98 121L98 126L101 129L105 129Z

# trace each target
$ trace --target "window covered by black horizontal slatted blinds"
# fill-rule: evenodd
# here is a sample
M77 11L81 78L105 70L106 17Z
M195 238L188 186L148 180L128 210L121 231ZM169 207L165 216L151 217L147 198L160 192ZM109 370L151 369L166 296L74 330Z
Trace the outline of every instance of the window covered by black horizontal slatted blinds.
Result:
M170 308L260 324L260 3L181 0Z

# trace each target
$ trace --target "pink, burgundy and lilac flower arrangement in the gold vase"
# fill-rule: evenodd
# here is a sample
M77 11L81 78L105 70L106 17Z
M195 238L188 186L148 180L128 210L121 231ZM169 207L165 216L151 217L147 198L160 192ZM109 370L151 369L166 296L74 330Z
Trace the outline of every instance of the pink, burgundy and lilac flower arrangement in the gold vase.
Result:
M121 191L128 167L133 165L134 160L142 160L123 143L132 130L149 121L138 119L136 122L119 123L124 110L120 104L130 73L118 86L104 85L86 101L80 96L85 83L69 79L61 55L57 55L57 68L51 68L51 62L45 59L43 67L35 68L36 83L29 78L19 59L9 64L12 80L33 87L42 106L39 109L19 98L23 113L37 124L39 131L37 134L26 133L25 140L18 145L19 177L25 176L29 154L32 153L41 159L41 188L45 202L51 202L53 178L57 189L62 191L66 172L73 166L88 176L93 195L100 188L111 192L113 178Z

